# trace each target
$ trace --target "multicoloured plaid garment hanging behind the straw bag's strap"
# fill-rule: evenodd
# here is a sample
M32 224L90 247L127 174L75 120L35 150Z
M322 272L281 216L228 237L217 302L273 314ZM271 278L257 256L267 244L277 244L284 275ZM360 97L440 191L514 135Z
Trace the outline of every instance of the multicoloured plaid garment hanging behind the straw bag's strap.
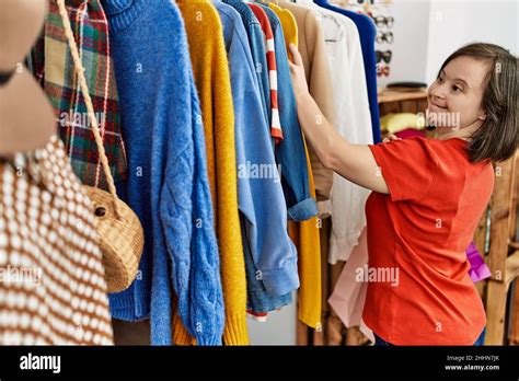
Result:
M99 0L67 0L66 4L112 175L115 182L125 180L126 152L106 15ZM76 175L83 184L107 189L56 0L49 1L45 28L31 58L33 72L55 109L59 135Z

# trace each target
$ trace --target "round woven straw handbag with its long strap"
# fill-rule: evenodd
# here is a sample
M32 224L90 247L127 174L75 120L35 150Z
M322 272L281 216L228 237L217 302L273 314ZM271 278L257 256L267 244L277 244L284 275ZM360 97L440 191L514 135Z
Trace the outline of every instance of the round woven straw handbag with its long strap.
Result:
M70 27L65 0L57 0L57 3L70 46L74 69L78 73L81 92L89 112L92 132L95 138L95 143L97 145L109 193L92 186L84 185L83 187L94 204L94 215L97 232L101 238L100 246L103 253L108 292L119 292L127 289L137 276L145 244L145 234L142 226L135 212L117 197L114 178L112 177L108 159L106 158L97 119L94 114L94 107L92 106L92 99L90 97L86 80L84 78L84 68L78 53L72 28Z

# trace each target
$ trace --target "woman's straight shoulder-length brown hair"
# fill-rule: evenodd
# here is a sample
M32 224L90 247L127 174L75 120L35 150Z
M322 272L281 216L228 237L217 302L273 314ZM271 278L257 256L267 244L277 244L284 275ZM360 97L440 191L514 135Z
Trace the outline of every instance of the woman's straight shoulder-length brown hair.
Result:
M504 161L514 155L519 142L517 125L518 60L508 50L494 44L475 43L451 54L443 68L454 58L469 56L492 64L483 92L482 108L486 113L483 125L472 134L469 157L472 162Z

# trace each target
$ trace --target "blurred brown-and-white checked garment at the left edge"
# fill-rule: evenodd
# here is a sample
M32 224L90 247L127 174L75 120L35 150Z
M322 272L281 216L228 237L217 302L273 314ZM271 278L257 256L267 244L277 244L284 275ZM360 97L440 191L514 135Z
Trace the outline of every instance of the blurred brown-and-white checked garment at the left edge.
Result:
M94 208L64 149L55 135L0 160L0 345L113 345Z

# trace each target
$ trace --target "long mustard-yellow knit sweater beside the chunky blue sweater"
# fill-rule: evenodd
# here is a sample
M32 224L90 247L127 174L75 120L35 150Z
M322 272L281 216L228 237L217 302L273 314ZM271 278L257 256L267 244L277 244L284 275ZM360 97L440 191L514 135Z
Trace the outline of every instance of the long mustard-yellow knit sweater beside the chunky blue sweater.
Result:
M223 343L247 345L246 278L238 212L234 112L223 31L218 11L209 0L176 2L185 22L204 120L226 308ZM193 338L175 316L173 342L193 344Z

